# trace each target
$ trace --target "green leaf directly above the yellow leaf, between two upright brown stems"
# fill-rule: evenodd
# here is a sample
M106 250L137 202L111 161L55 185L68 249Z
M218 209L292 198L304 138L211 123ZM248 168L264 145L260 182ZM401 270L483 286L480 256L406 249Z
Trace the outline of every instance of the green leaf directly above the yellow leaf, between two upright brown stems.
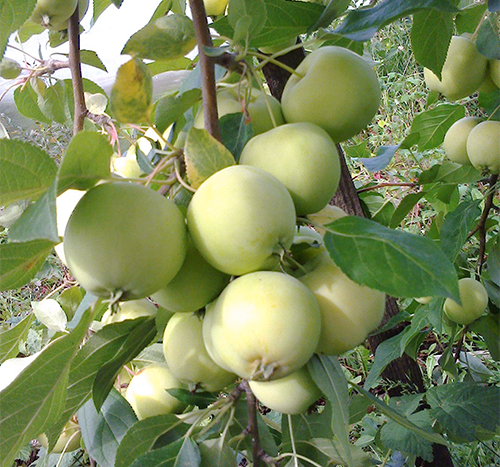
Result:
M122 54L149 60L174 60L196 46L193 22L184 15L162 16L137 31Z

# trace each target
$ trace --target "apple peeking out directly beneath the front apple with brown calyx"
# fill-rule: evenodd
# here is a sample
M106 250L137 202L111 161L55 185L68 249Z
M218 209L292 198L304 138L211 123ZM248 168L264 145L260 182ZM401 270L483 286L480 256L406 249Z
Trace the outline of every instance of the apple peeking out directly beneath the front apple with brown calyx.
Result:
M306 366L273 381L250 381L250 389L261 404L276 412L297 415L305 412L322 393Z

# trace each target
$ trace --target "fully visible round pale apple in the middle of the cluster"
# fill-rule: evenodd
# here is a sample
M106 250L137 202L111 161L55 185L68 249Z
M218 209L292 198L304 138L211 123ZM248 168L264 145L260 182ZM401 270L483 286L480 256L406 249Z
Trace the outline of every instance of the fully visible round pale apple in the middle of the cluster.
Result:
M257 167L233 165L198 188L188 206L187 225L212 266L240 276L278 264L293 241L295 208L275 177Z

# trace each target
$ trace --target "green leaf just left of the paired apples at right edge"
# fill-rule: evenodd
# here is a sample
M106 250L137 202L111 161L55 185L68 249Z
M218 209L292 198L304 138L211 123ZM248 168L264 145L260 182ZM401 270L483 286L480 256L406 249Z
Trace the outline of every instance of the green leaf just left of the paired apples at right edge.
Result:
M415 116L411 134L419 133L418 149L424 151L438 147L444 135L457 120L465 117L465 108L457 104L439 104Z

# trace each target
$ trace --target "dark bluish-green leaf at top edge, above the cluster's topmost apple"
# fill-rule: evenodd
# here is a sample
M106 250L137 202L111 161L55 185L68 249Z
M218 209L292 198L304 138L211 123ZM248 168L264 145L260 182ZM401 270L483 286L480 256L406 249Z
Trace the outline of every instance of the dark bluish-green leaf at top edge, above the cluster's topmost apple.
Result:
M334 32L350 39L366 41L386 24L427 8L449 13L459 11L447 0L385 0L371 8L352 10Z

